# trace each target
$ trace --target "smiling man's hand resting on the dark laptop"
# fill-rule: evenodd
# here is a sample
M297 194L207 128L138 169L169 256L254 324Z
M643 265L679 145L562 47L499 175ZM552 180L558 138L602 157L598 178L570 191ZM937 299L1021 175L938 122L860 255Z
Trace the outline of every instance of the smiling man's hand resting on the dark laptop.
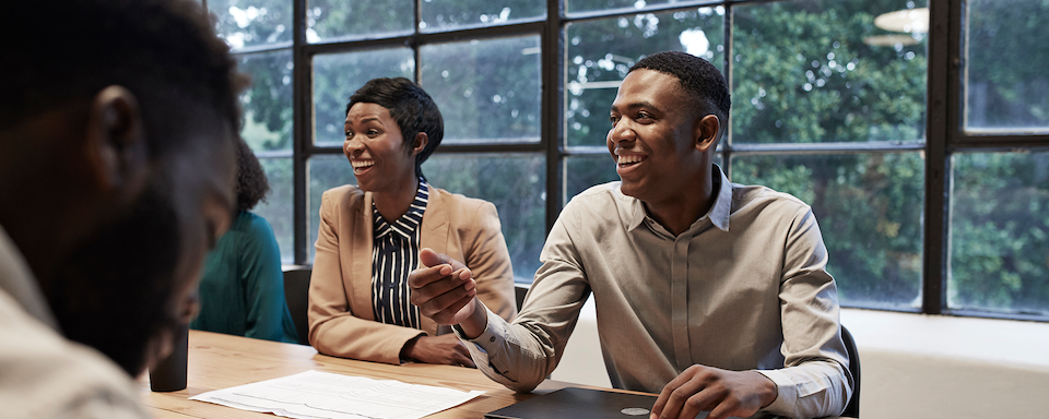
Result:
M692 366L663 386L651 419L694 419L700 411L710 411L707 419L745 418L777 395L776 383L759 372Z

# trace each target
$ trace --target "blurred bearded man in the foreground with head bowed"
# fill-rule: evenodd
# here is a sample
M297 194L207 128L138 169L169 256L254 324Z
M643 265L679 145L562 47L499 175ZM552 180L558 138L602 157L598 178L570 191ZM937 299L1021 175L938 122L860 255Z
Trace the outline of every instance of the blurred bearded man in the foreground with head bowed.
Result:
M131 376L229 223L243 82L191 1L12 2L0 39L3 416L145 417Z

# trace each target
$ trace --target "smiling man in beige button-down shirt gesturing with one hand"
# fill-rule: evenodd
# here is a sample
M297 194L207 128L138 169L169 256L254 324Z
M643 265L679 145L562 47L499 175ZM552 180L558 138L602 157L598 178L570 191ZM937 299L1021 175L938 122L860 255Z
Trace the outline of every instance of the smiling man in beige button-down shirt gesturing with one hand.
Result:
M823 238L809 205L731 183L712 164L729 108L709 62L641 59L611 107L622 181L565 206L514 323L472 298L469 270L428 251L412 301L456 325L479 368L514 390L557 367L593 294L612 384L660 393L652 417L840 414L852 379Z

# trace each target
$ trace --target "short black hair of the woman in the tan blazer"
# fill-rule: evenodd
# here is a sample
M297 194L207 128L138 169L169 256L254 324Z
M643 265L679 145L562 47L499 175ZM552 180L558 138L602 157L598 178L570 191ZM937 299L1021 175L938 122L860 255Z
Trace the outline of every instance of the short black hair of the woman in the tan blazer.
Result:
M408 153L414 145L415 135L426 133L426 147L415 155L415 175L423 176L422 165L440 145L445 136L445 122L437 104L417 84L404 77L373 79L350 96L346 113L356 104L376 104L390 111L404 139Z

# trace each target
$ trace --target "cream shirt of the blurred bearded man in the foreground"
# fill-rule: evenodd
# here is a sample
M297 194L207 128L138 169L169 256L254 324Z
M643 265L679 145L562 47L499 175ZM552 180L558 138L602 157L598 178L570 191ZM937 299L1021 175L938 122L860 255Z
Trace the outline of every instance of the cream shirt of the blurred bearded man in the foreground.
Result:
M0 406L4 418L149 418L131 378L67 340L25 259L0 226Z

